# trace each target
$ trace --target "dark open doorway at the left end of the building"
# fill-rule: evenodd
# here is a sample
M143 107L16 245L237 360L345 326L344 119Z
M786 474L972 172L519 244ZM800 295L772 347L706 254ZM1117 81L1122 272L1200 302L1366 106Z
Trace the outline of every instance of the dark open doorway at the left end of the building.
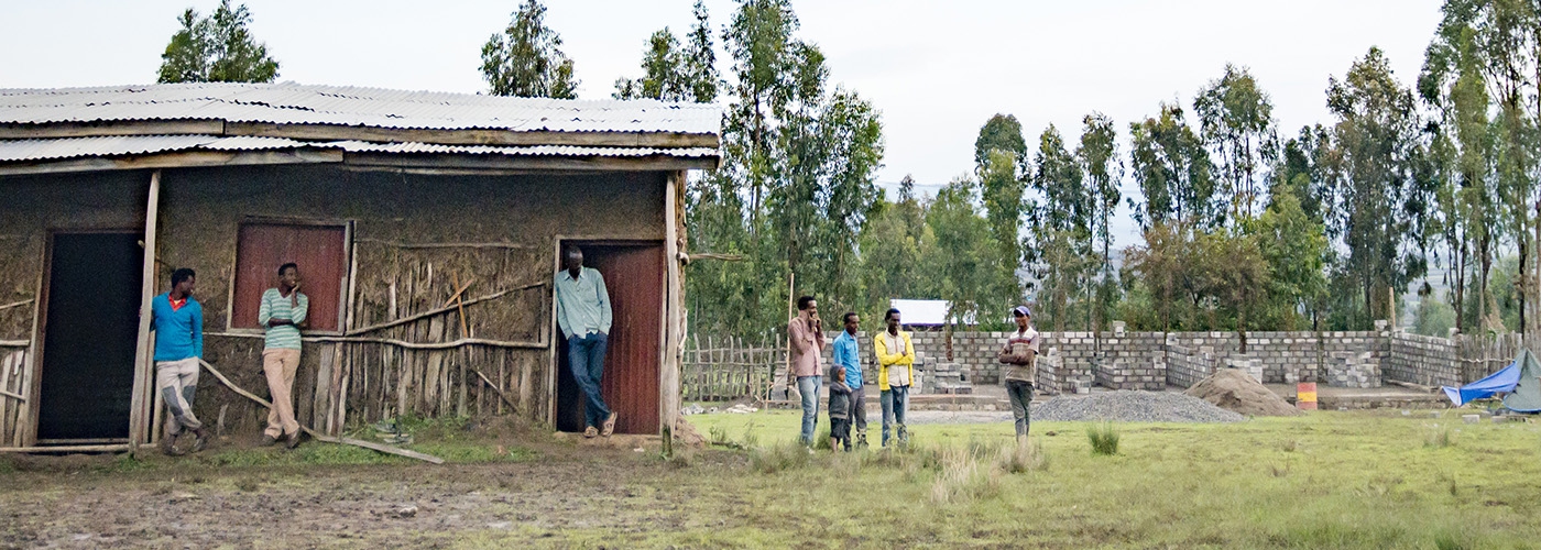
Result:
M143 282L139 234L55 233L49 257L37 439L126 441Z

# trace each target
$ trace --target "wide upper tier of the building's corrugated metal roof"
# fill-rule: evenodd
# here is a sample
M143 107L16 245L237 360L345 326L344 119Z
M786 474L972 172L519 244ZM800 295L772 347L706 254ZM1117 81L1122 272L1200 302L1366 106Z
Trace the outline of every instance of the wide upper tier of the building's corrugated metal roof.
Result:
M715 136L721 108L655 100L556 100L297 83L0 88L0 123L125 120Z

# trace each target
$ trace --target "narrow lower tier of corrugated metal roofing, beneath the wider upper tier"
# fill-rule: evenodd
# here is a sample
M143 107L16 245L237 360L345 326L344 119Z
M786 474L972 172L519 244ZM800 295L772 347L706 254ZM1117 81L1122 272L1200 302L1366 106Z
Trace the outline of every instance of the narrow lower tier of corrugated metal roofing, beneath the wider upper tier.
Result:
M505 154L532 157L652 157L709 159L712 148L623 148L623 146L484 146L431 143L373 142L299 142L282 137L220 137L220 136L112 136L0 140L0 162L37 162L80 157L119 157L174 151L265 151L265 149L342 149L348 153L390 154Z

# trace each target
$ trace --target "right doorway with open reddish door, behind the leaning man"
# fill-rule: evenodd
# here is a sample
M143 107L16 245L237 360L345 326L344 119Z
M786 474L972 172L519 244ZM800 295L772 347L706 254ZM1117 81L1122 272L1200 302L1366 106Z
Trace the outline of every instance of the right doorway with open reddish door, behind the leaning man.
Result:
M604 356L604 402L619 419L615 433L658 433L658 351L664 314L664 245L578 243L584 265L599 270L610 291L610 342ZM558 331L558 336L561 333ZM556 347L556 430L582 431L584 404Z

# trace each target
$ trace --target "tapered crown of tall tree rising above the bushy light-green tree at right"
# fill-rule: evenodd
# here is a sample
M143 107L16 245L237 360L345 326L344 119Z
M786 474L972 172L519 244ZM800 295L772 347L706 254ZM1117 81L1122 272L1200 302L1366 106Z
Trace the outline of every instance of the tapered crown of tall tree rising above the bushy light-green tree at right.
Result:
M1219 159L1220 182L1231 200L1233 225L1253 217L1262 191L1262 169L1277 156L1273 100L1247 68L1225 65L1225 74L1193 100L1204 142Z

